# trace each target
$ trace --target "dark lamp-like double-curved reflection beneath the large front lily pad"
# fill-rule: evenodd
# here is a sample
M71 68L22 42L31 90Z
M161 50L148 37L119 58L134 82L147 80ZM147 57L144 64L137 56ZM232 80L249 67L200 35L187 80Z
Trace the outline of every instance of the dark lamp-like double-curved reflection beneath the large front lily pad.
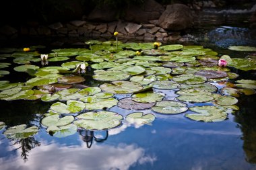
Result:
M92 131L92 130L78 130L79 134L82 136L82 140L86 142L88 148L92 146L93 140L96 142L104 142L108 138L108 130L104 131ZM103 133L105 132L105 134ZM104 135L102 135L104 134ZM102 138L98 137L102 136Z

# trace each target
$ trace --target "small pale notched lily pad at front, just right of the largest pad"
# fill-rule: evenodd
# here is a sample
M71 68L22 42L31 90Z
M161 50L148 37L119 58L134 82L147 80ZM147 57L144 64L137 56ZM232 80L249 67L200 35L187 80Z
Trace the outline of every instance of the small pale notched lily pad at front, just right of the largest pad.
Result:
M134 112L131 114L128 114L125 117L125 120L129 122L130 124L150 124L155 120L154 114L144 114L143 112Z

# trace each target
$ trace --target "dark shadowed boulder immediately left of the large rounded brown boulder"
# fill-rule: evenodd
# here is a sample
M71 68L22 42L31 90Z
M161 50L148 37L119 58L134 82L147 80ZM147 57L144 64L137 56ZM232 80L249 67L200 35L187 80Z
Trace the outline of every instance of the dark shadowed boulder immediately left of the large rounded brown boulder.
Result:
M144 1L143 4L131 4L125 10L124 19L129 22L148 23L150 20L158 19L164 7L154 0Z

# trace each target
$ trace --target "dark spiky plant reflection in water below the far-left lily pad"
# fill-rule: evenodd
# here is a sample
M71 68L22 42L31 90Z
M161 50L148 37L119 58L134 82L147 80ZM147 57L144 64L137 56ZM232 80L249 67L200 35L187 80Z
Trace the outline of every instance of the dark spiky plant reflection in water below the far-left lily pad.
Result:
M15 150L18 149L22 149L22 154L20 155L22 157L22 159L24 159L24 161L28 161L28 153L30 152L30 150L32 148L35 148L36 146L40 146L40 142L38 142L34 136L32 137L28 137L28 138L22 138L20 140L16 140L16 139L12 139L12 141L15 142L13 143L13 145L20 145L18 148L16 148Z

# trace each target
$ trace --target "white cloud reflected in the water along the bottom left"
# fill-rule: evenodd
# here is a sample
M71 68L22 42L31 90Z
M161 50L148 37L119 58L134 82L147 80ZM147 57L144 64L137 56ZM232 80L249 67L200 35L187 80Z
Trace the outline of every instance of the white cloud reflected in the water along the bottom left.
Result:
M129 169L136 163L139 165L156 161L156 157L145 154L143 148L134 144L119 146L97 145L87 148L82 146L58 146L42 144L30 152L30 159L24 163L20 153L7 160L0 158L1 170L65 170L65 169Z

